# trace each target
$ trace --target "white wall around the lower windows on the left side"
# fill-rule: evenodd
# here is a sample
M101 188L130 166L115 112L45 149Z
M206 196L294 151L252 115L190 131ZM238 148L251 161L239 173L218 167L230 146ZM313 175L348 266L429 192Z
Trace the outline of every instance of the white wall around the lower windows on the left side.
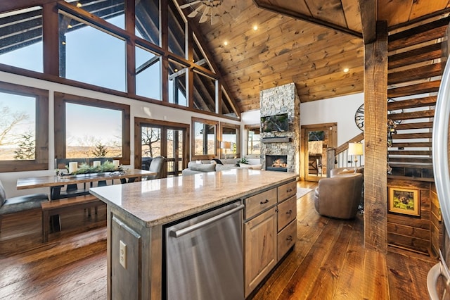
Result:
M71 87L68 85L61 85L55 82L47 82L44 80L37 80L30 77L24 77L20 75L14 75L10 73L0 72L0 81L15 83L17 85L23 85L27 87L36 87L39 89L49 90L49 170L30 171L30 172L13 172L13 173L1 173L0 180L6 189L6 196L18 196L23 194L31 194L37 192L49 193L48 188L41 189L24 189L18 191L15 188L17 179L19 177L34 177L43 175L54 175L54 122L53 122L53 92L64 92L67 94L75 94L78 96L85 96L93 99L99 99L104 101L113 101L120 104L127 104L130 106L130 137L131 137L131 165L125 166L125 168L134 168L134 118L151 118L155 120L167 120L168 122L184 123L191 125L191 117L205 118L208 120L217 120L225 123L240 124L238 121L219 118L212 115L204 115L202 113L194 113L191 111L185 111L180 108L172 108L168 106L162 106L158 104L149 104L143 101L137 101L134 99L128 99L121 96L114 96L110 94L104 94L101 92L93 92L88 89L81 89L78 87Z

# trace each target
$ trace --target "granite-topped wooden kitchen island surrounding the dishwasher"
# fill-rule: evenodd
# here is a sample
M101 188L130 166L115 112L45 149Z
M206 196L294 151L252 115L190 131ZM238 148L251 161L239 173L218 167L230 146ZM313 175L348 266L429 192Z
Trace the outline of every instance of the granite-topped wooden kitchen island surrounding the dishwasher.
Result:
M262 252L271 258L266 267L254 268L258 269L257 281L249 279L255 277L248 270L254 263L249 266L250 257L244 258L245 281L250 282L242 282L242 285L246 285L245 296L248 296L255 282L261 281L279 261L277 235L289 227L286 231L290 234L288 246L292 247L295 242L293 218L282 230L277 226L276 217L278 206L283 205L288 206L286 214L295 218L295 201L292 201L295 200L295 179L294 173L233 169L91 189L91 194L108 205L108 299L162 299L165 296L162 291L166 259L164 226L233 201L246 205L244 227L261 218L262 224L267 224L264 234L275 241L269 247L264 244ZM258 208L253 203L257 203ZM264 215L269 217L262 218ZM245 232L255 234L251 228ZM243 253L246 253L250 245L244 246ZM255 250L255 245L252 249Z

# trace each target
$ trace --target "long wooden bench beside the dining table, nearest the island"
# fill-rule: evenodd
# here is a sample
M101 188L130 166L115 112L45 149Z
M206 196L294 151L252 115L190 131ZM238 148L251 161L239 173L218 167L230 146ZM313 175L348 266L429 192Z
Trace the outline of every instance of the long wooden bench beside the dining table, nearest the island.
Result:
M101 204L104 204L104 202L91 194L41 202L42 242L45 243L49 240L50 217L52 215L59 215L60 213L72 211L74 206L77 208L88 208L89 215L91 215L90 208L94 206L97 213L97 206Z

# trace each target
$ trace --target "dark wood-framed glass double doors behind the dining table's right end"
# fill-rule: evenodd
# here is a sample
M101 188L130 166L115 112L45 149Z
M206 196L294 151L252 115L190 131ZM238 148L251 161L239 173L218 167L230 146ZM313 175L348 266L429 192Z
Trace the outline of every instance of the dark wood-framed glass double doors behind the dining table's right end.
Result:
M151 158L167 158L168 177L187 167L189 125L134 118L134 165L148 169Z

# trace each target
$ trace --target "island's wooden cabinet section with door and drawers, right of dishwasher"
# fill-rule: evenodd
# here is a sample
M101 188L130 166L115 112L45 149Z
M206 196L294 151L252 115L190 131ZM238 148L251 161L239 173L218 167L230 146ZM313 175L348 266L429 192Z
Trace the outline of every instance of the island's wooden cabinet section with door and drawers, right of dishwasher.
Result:
M297 182L244 199L245 297L295 244Z

